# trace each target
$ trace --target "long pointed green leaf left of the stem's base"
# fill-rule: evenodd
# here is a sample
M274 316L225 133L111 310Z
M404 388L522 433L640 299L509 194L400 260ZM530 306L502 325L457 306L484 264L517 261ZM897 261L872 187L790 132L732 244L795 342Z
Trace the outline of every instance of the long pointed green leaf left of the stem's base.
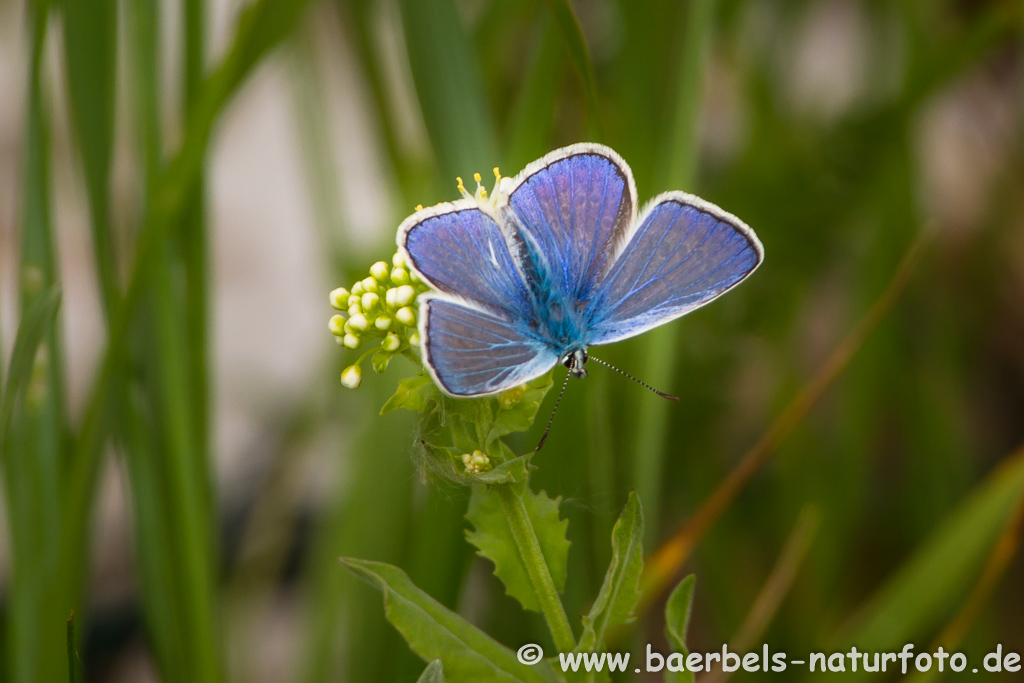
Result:
M450 683L557 681L550 665L520 664L512 650L421 591L398 567L347 557L341 562L380 589L387 620L414 652L443 663Z

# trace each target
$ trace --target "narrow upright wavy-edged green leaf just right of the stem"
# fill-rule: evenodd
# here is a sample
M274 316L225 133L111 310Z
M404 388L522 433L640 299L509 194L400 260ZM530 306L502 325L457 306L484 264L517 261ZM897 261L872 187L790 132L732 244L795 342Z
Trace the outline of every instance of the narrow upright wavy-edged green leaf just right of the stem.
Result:
M635 492L611 529L611 561L597 600L583 618L580 651L600 648L608 629L633 621L633 608L640 601L640 571L643 569L643 511Z

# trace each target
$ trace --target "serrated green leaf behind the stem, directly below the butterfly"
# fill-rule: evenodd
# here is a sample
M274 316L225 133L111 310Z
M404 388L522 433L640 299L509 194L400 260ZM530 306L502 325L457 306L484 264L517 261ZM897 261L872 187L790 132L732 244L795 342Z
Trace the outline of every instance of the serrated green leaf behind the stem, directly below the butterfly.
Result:
M558 517L561 499L552 500L544 492L535 494L527 486L522 502L555 589L561 593L565 590L565 568L569 556L569 542L565 538L569 522ZM473 530L466 532L466 539L476 547L481 557L494 562L495 575L505 584L505 591L524 608L540 612L541 603L534 592L498 494L485 486L474 486L466 519L473 525Z

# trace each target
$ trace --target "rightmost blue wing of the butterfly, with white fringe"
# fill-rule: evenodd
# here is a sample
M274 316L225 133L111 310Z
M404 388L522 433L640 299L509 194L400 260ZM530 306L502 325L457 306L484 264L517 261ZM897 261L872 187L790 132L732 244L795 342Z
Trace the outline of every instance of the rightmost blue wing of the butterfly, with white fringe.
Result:
M696 197L654 199L589 302L589 338L607 344L679 317L739 284L764 250L735 216Z

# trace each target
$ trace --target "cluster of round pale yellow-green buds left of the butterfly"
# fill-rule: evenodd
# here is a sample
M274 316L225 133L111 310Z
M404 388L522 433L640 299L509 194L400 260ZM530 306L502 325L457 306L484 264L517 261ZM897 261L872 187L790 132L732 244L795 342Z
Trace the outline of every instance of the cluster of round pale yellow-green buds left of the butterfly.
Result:
M349 289L339 287L331 292L331 306L341 311L328 323L335 341L351 349L368 342L380 342L345 368L341 373L343 385L349 389L359 386L362 380L360 364L367 356L374 354L374 370L382 373L393 356L419 346L417 297L428 289L406 267L401 254L395 253L390 266L378 261L370 266L369 278Z

